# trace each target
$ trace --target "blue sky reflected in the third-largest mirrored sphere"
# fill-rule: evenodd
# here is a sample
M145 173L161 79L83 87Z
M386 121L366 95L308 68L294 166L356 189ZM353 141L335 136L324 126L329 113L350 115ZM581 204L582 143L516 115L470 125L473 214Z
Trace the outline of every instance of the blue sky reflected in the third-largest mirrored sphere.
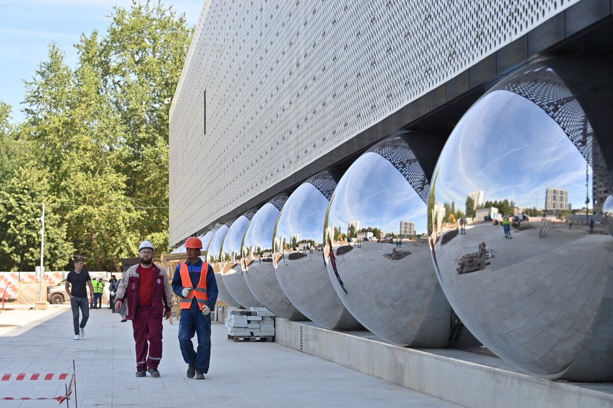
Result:
M276 225L276 238L285 238L289 243L291 236L298 240L313 240L322 243L322 228L329 201L311 183L303 183L285 203Z

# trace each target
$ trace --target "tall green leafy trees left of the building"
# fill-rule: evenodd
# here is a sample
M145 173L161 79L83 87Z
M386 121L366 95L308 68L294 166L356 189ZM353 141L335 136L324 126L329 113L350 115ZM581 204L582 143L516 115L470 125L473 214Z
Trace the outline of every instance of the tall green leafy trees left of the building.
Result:
M47 269L84 255L89 270L120 270L143 239L169 251L169 108L192 31L161 2L115 7L104 36L82 34L76 67L49 45L23 123L0 102L0 159L20 157L0 161L0 221L15 232L0 230L0 270L40 262L40 203Z

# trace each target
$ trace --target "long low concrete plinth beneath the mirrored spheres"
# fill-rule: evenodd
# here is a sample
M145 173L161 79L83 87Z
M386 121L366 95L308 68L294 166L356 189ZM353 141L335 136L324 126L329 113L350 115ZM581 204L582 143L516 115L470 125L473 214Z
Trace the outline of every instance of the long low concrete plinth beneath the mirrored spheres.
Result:
M368 331L335 331L275 319L275 341L468 408L613 407L610 383L545 380L500 358L454 349L409 349Z

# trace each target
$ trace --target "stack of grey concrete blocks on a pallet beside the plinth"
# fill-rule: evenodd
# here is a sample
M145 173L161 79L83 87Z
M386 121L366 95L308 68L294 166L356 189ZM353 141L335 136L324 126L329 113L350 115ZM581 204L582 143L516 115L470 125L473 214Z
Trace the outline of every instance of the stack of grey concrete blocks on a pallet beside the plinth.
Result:
M230 311L226 319L228 336L268 337L275 335L275 314L267 308Z

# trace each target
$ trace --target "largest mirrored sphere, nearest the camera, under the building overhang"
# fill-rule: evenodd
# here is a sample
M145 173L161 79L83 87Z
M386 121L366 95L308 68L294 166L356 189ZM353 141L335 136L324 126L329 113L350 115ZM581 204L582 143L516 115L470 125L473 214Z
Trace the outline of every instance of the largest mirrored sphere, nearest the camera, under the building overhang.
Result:
M533 64L466 112L436 165L443 290L484 346L530 374L613 379L613 240L593 211L593 192L612 187L604 159L575 93Z

